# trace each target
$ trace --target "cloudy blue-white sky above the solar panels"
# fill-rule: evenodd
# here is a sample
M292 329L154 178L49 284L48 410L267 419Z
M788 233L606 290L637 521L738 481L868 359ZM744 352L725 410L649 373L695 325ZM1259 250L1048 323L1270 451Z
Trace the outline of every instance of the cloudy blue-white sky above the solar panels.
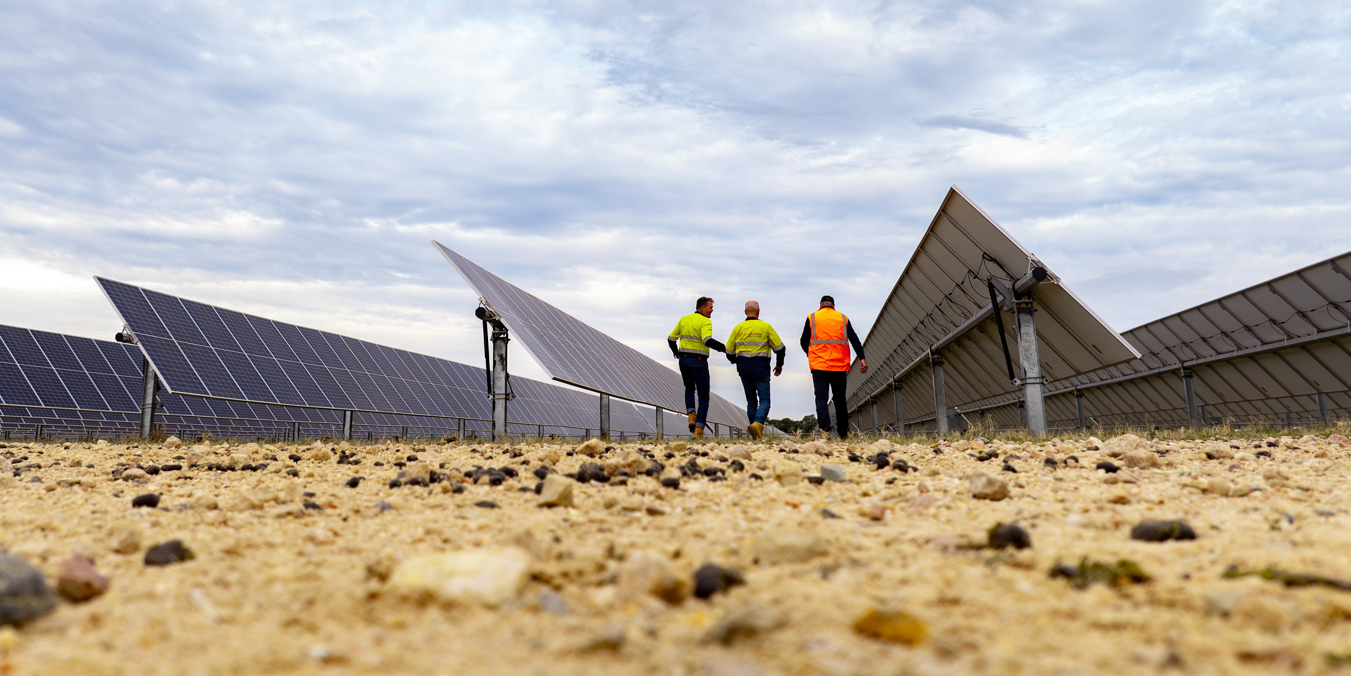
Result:
M866 329L957 184L1125 330L1351 249L1348 111L1329 1L9 0L0 323L109 338L101 274L474 364L435 238L670 361L698 295Z

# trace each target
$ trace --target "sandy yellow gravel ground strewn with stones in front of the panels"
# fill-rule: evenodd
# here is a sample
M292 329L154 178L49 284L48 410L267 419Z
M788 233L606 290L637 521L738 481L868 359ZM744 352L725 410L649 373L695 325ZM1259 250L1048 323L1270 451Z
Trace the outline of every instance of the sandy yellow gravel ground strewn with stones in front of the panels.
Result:
M1339 435L581 453L174 441L0 449L4 475L19 475L0 477L0 548L53 594L101 588L73 556L108 580L0 627L0 673L1351 664L1351 442ZM542 495L535 470L550 476ZM158 503L132 507L146 495ZM1132 539L1159 519L1185 526L1156 533L1194 539ZM147 565L174 539L190 558Z

